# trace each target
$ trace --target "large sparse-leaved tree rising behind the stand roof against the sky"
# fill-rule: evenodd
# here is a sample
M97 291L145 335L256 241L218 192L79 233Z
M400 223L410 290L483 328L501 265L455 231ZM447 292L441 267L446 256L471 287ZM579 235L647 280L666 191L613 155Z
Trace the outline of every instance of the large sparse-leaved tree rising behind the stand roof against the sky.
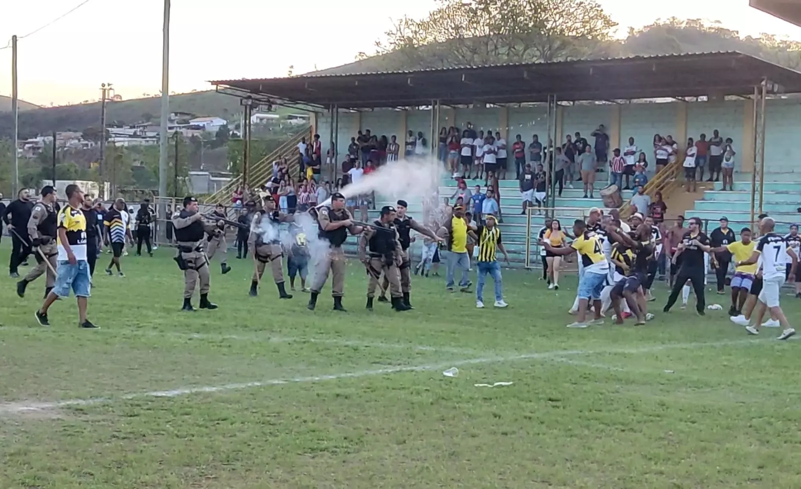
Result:
M437 0L376 42L406 69L553 62L608 56L617 24L594 0Z

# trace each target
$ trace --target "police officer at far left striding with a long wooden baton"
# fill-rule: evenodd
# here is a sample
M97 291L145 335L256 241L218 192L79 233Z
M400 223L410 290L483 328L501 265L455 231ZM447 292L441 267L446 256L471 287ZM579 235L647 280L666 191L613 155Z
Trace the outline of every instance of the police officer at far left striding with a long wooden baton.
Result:
M36 267L32 268L25 278L17 283L17 295L25 296L28 284L46 273L45 297L55 285L55 267L58 248L55 238L58 235L58 204L55 203L55 189L46 185L42 187L42 199L36 202L28 219L28 237L30 246L38 248L35 252ZM45 261L46 260L46 261ZM47 265L50 264L50 267Z

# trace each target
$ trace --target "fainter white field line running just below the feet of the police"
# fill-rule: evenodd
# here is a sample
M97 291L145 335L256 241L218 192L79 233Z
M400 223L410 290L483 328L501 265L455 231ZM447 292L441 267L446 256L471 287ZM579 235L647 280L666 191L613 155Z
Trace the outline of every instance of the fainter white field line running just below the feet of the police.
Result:
M47 332L47 331L58 331L58 330L49 330L49 329L34 329L31 327L15 327L15 326L6 326L0 327L0 331L8 330L8 331L36 331L36 332ZM58 331L62 332L62 331ZM97 334L97 335L109 335L109 331L101 330L96 332L90 332L90 335ZM282 336L268 336L268 335L222 335L222 334L213 334L213 333L188 333L188 332L181 332L181 331L147 331L147 330L115 330L111 332L111 335L114 336L125 336L125 335L143 335L143 336L157 336L157 337L166 337L166 338L175 338L175 339L207 339L212 341L223 341L223 340L233 340L233 341L247 341L253 343L319 343L324 345L335 345L339 347L366 347L366 348L384 348L387 350L414 350L414 351L442 351L448 353L457 353L461 355L478 355L479 352L477 350L469 349L469 348L457 348L457 347L431 347L426 345L415 345L413 343L384 343L384 342L370 342L370 341L360 341L355 339L330 339L330 338L304 338L301 336L298 337L282 337Z

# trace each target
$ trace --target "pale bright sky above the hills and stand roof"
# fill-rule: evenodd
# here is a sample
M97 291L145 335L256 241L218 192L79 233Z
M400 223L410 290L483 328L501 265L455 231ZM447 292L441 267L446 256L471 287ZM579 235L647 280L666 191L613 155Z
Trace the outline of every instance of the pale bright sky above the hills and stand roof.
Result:
M82 1L3 2L0 48L13 34L37 30ZM751 9L748 0L636 2L636 9L633 0L598 2L620 24L621 36L628 26L675 16L718 20L743 35L801 40L801 28ZM356 5L364 3L172 0L170 91L209 90L209 80L286 76L289 66L300 74L353 62L360 51L375 51L393 19L425 17L437 2L376 2L376 18L366 25L356 24ZM19 40L19 97L45 106L79 103L99 98L103 82L113 83L123 99L158 94L162 18L163 0L89 0ZM9 96L10 49L0 49L0 66L0 95Z

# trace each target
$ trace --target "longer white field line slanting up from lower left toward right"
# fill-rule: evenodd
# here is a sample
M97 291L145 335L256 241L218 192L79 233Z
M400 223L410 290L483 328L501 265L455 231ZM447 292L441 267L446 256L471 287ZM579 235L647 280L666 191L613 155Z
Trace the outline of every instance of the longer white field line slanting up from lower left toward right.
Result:
M385 367L373 370L354 371L354 372L341 372L328 375L312 375L308 377L296 377L290 379L268 379L248 383L228 383L218 386L205 386L205 387L179 387L170 391L149 391L139 392L135 394L119 395L110 398L95 398L95 399L70 399L64 401L56 401L50 403L5 403L0 404L0 415L13 415L30 411L43 411L50 409L58 409L60 407L70 406L88 406L98 403L113 403L119 399L139 399L148 397L175 397L179 395L199 394L203 392L224 392L235 391L241 389L249 389L253 387L268 387L277 386L291 383L310 383L320 382L324 380L336 379L358 379L361 377L369 377L376 375L396 374L400 372L419 372L419 371L440 371L449 367L462 367L465 365L479 365L486 363L505 363L517 362L521 360L535 360L535 359L548 359L557 360L561 357L574 356L574 355L615 355L615 354L640 354L651 353L655 351L665 350L686 350L691 348L703 347L726 347L732 345L743 344L759 344L763 343L756 339L743 339L743 340L730 340L721 342L707 342L707 343L673 343L665 345L656 345L653 347L642 347L633 349L607 349L607 350L561 350L561 351L544 351L540 353L527 353L521 355L509 356L493 356L482 357L474 359L461 359L451 360L445 363L432 363L417 366L399 366L399 367Z

